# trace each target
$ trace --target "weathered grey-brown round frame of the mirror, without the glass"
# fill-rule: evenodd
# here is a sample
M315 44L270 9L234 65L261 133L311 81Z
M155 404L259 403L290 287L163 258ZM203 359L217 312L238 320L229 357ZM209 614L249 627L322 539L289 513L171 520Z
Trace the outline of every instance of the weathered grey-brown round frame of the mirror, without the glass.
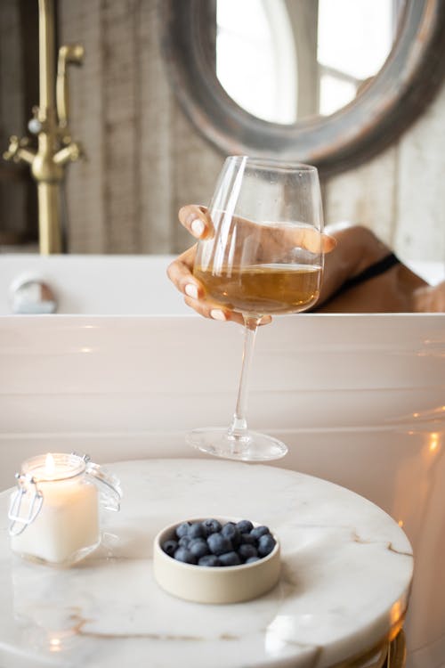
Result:
M406 0L383 68L343 109L279 125L241 109L214 71L213 0L160 0L161 51L182 109L223 154L288 159L331 175L383 151L423 113L445 74L445 2ZM215 29L215 27L214 27Z

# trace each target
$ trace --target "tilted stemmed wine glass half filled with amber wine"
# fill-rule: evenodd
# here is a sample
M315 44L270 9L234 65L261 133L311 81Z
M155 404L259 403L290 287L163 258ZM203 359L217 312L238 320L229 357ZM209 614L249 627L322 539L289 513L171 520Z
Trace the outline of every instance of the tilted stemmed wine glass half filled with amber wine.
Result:
M208 300L243 315L244 351L231 425L193 429L186 441L231 460L276 460L287 445L247 428L247 376L263 315L304 311L319 296L323 216L317 169L231 156L208 216L211 230L198 242L193 274Z

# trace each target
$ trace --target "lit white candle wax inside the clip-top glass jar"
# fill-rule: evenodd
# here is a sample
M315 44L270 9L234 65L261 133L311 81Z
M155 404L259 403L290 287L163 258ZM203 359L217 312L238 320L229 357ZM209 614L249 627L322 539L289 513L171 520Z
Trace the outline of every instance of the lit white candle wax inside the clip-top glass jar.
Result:
M12 550L58 565L69 565L92 551L100 540L99 496L85 478L85 462L77 456L49 454L24 462L22 472L32 474L43 502L34 521L11 536ZM28 515L33 493L30 489L23 494L20 517Z

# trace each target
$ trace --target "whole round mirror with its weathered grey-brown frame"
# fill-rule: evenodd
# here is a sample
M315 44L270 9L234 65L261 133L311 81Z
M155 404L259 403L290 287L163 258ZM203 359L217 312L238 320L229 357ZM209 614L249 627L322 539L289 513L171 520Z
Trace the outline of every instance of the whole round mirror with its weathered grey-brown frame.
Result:
M225 154L324 174L370 158L431 101L445 72L441 0L163 0L170 80Z

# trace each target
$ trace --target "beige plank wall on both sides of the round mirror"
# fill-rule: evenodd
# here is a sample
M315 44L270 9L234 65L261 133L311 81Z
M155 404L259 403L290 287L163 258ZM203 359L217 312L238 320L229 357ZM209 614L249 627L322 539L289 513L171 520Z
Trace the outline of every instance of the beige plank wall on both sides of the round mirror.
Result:
M70 252L186 248L177 209L206 202L222 165L169 86L157 5L59 2L61 42L85 45L84 65L70 69L72 130L87 156L68 170ZM398 143L327 184L327 222L367 224L402 258L444 261L444 118L445 86Z

